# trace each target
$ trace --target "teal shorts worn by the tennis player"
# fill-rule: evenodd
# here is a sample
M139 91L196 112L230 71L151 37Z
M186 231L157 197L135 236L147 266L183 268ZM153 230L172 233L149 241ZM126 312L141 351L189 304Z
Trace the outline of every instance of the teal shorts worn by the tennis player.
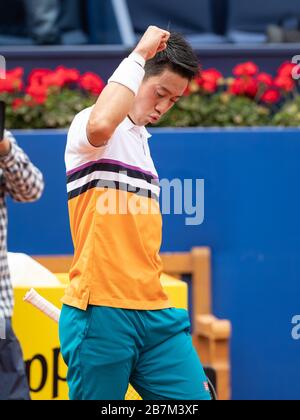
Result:
M71 400L210 400L188 312L63 306L59 334Z

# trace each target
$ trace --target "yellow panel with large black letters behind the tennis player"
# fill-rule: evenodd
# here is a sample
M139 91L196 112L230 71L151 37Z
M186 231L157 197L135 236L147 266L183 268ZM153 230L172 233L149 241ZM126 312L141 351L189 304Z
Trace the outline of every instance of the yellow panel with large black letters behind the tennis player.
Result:
M61 281L60 287L39 287L36 291L61 308L60 300L64 294L64 284L68 275L58 274L57 277ZM187 309L186 283L163 275L162 285L175 307ZM31 397L33 400L66 400L68 399L67 367L60 354L58 326L36 308L23 302L30 288L30 282L28 287L15 288L13 325L23 349ZM129 389L127 399L137 398L138 395Z

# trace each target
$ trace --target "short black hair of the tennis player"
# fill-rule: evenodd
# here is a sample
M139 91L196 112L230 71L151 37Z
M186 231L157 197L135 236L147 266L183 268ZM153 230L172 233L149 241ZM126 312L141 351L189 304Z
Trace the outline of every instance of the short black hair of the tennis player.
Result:
M183 35L176 32L171 32L167 48L147 61L145 77L158 76L166 69L190 81L199 73L199 61L196 53Z

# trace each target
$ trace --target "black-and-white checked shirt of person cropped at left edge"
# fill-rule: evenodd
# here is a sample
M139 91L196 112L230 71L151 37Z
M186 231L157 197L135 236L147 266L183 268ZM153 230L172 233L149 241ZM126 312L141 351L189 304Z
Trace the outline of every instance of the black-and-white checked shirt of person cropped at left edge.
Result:
M0 319L11 318L13 313L13 288L7 261L7 209L9 195L18 202L38 200L44 189L41 172L18 147L10 132L5 138L11 142L8 155L0 156Z

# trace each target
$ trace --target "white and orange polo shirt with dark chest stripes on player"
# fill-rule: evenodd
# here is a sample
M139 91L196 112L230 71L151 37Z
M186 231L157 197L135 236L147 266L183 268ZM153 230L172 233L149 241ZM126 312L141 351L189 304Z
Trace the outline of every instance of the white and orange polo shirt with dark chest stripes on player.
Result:
M145 127L126 118L108 144L92 146L92 108L69 130L65 154L75 255L63 303L135 310L169 308L160 282L159 180Z

